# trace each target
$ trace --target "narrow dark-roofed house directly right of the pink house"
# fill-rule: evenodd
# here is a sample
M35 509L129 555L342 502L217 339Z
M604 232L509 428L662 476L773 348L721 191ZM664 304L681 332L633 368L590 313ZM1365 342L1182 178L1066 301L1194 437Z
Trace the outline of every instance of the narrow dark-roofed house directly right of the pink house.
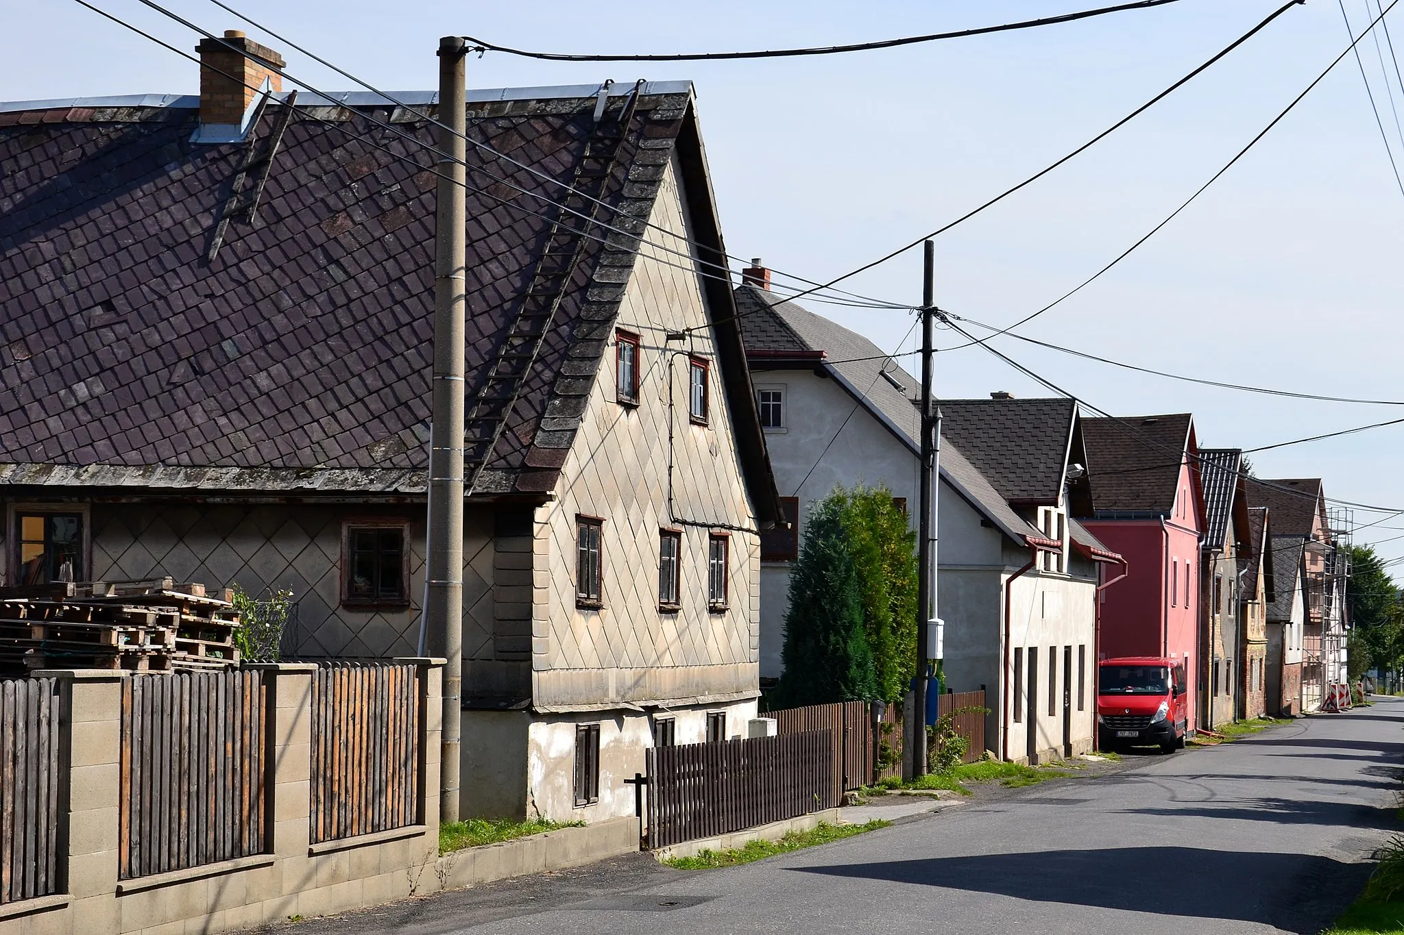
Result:
M1198 687L1200 723L1209 729L1233 722L1243 707L1238 685L1245 681L1241 670L1247 662L1240 653L1238 557L1250 548L1250 528L1241 468L1243 451L1238 449L1199 450L1205 535L1199 545L1199 659L1203 664Z

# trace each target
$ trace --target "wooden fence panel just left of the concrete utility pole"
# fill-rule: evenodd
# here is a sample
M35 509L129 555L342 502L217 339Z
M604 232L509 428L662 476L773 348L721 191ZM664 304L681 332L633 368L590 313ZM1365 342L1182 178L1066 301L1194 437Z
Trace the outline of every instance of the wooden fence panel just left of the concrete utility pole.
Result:
M414 666L331 663L312 678L312 841L420 820Z

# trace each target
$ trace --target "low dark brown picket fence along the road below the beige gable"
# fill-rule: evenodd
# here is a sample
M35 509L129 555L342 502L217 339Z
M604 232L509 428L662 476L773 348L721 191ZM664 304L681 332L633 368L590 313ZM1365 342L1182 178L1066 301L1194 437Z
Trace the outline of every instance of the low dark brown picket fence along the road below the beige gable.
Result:
M809 814L834 800L827 730L651 747L650 848Z

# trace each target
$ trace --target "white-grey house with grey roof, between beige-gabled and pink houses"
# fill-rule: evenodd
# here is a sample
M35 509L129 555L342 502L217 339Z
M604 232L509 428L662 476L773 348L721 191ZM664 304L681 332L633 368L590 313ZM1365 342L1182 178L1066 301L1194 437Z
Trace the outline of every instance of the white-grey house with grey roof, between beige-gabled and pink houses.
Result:
M761 676L782 671L789 575L809 506L835 485L920 502L920 384L872 342L783 301L760 264L736 293L775 481L792 528L762 540ZM1081 460L1073 400L942 400L938 613L943 673L984 688L987 746L1038 763L1095 733L1099 572L1120 562L1068 502ZM915 524L915 516L911 516Z

